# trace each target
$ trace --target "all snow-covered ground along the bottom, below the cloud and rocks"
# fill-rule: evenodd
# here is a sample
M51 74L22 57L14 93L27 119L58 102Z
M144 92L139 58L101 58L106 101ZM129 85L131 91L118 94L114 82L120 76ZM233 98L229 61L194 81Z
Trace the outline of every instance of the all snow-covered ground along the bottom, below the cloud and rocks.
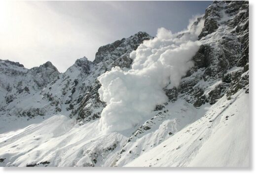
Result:
M159 127L127 145L122 134L103 134L99 120L79 126L67 116L54 115L0 134L0 165L89 166L93 161L95 166L249 166L248 98L240 90L231 100L223 96L215 105L193 110L178 101L167 106L173 114ZM121 150L124 156L118 158Z

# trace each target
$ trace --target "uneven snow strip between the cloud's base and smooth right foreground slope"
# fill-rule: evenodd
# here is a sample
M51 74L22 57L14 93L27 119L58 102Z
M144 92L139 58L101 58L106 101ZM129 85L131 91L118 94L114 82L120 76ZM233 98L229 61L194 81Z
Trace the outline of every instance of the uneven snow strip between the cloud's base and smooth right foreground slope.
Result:
M121 154L115 166L124 166L164 140L174 136L189 123L201 118L208 106L204 105L204 107L197 109L184 100L178 100L165 106L160 111L162 114L159 114L158 111L154 117L145 122L144 125L150 127L149 130L137 130L129 138L131 141L123 147L126 151Z

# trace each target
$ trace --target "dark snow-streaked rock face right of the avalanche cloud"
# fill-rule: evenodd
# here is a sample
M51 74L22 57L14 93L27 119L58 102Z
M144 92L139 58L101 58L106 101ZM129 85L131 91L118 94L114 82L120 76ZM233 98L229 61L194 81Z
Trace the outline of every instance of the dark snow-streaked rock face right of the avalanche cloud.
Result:
M195 66L178 88L187 102L212 105L249 84L248 5L248 1L215 1L206 9ZM215 88L208 92L211 85Z

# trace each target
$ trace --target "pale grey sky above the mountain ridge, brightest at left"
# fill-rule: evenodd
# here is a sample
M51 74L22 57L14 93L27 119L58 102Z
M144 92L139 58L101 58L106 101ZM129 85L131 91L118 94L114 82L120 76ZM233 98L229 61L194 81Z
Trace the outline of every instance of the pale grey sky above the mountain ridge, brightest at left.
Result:
M212 1L0 1L0 59L60 72L140 31L182 31Z

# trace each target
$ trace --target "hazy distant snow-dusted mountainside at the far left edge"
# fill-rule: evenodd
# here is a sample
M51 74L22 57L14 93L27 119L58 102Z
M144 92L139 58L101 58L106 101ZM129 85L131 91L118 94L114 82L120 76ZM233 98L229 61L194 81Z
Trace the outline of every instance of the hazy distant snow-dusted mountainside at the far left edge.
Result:
M44 111L36 106L28 110L25 107L28 104L24 104L24 100L32 99L59 76L59 71L50 62L28 70L19 63L0 60L0 72L1 116L44 115ZM33 103L30 101L29 104Z

